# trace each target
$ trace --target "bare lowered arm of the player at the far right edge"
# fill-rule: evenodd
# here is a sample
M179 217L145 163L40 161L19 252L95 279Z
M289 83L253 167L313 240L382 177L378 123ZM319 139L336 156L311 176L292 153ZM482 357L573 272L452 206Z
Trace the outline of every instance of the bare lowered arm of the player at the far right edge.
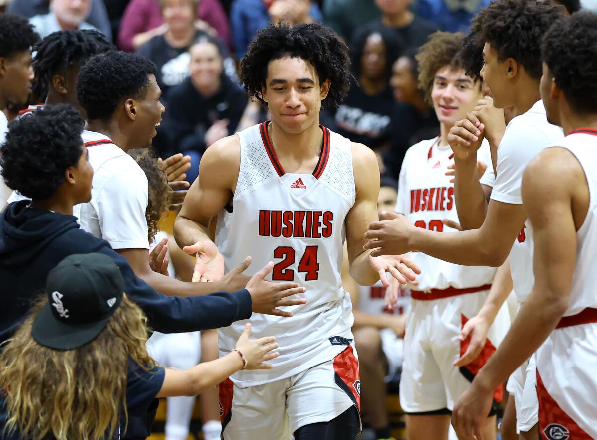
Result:
M534 229L535 284L506 338L454 407L453 424L464 438L480 432L493 390L539 348L568 307L576 261L573 192L586 188L584 173L573 162L567 151L549 148L524 173L522 198Z

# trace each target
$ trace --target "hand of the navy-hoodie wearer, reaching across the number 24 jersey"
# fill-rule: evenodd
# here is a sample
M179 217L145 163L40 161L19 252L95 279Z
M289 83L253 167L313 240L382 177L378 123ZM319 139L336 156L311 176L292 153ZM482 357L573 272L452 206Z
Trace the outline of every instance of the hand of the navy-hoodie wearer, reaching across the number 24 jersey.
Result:
M307 303L306 299L288 299L288 296L297 295L306 292L304 287L298 283L283 282L272 283L266 281L265 277L272 271L273 262L269 262L266 267L257 272L247 283L247 290L253 300L253 311L266 315L275 315L290 318L293 314L282 312L276 307L297 306Z

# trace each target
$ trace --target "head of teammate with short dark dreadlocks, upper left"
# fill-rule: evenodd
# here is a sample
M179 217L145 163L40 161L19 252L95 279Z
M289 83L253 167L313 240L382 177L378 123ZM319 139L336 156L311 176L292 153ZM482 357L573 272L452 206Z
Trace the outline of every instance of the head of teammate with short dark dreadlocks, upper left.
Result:
M66 103L77 108L76 78L94 55L115 49L97 30L59 30L35 47L33 92L45 104Z

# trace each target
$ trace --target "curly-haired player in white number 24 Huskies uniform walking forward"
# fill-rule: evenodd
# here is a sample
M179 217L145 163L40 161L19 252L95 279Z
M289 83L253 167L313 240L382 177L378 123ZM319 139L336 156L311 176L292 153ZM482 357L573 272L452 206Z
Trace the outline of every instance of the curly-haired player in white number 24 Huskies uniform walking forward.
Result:
M220 385L224 439L354 439L360 383L340 277L344 236L360 284L387 285L386 272L405 283L418 271L409 258L362 250L377 217L376 156L319 125L322 103L337 106L346 95L347 64L346 45L320 24L261 30L241 81L272 120L211 145L174 223L179 246L198 253L202 280L221 277L250 250L257 265L275 261L272 280L307 288L299 296L309 302L292 318L251 318L254 336L276 334L280 356L266 374L243 371ZM219 331L221 354L239 331Z

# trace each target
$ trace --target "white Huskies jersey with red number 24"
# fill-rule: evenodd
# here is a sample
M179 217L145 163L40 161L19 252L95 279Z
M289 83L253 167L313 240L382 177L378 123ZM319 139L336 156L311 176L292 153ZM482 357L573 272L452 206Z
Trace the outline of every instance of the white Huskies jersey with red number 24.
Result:
M306 287L302 306L282 308L291 318L254 313L219 330L220 351L232 350L245 323L251 337L275 336L279 357L271 370L239 371L239 386L284 379L331 360L346 345L333 336L350 336L352 305L342 287L344 218L355 202L350 141L321 127L321 157L312 174L285 173L267 134L267 122L239 132L241 167L232 207L218 218L216 244L226 271L252 256L254 274L275 262L268 279Z

